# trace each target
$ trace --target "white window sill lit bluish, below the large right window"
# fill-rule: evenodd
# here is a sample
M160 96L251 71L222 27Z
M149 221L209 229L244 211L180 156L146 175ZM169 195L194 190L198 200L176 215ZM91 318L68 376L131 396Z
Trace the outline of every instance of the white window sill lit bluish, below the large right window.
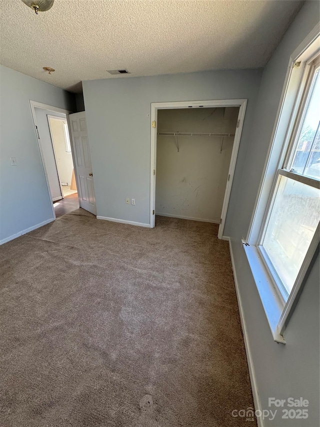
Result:
M244 240L242 240L242 243L273 339L275 342L285 344L283 336L278 332L278 322L284 304L274 288L257 248L246 244Z

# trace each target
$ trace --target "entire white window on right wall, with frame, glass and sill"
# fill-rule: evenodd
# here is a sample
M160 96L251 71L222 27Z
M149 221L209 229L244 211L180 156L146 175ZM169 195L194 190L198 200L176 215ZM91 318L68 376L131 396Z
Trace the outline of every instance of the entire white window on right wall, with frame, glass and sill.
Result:
M319 39L293 57L244 249L273 334L283 331L319 243ZM273 184L272 184L273 176Z

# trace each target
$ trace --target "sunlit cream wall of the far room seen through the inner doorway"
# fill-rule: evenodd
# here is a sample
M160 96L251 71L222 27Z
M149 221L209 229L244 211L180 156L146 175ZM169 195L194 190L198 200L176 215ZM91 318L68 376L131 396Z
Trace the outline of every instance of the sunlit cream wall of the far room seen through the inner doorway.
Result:
M66 151L63 122L50 119L50 125L60 181L67 182L70 185L73 162L71 152Z

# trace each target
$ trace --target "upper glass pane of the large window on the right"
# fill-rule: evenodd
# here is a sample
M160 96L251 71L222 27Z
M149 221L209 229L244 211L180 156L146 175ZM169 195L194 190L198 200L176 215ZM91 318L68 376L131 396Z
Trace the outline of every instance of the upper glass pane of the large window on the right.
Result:
M316 70L297 134L290 169L312 178L320 178L320 72Z

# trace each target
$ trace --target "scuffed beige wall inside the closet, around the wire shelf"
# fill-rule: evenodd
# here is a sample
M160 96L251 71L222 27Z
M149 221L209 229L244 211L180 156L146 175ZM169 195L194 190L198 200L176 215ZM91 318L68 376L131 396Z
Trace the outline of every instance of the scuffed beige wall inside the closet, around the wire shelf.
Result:
M159 110L158 132L234 133L238 108ZM156 214L219 222L234 137L157 137Z

